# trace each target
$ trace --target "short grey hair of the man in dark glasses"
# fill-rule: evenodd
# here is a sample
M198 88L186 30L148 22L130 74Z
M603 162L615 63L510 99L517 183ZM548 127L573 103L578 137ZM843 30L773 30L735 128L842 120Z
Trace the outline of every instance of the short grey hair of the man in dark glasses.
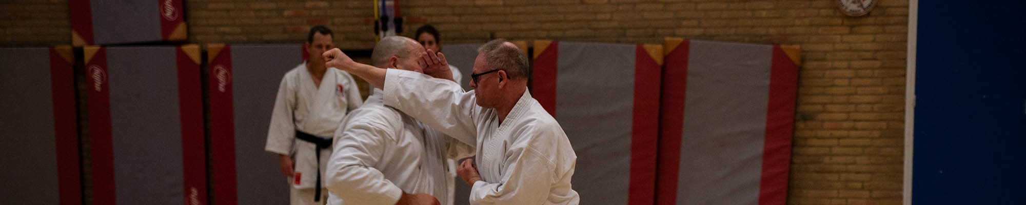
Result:
M505 45L506 39L488 41L477 48L477 53L484 53L484 60L489 70L504 70L510 78L527 78L530 75L530 63L516 46Z

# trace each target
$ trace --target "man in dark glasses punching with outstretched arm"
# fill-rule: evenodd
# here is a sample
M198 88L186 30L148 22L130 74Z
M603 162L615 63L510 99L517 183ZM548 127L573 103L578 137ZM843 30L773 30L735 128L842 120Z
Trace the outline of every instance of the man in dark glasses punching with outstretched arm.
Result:
M476 136L476 160L458 168L471 184L471 204L578 204L570 188L577 155L562 128L527 92L527 56L503 39L478 48L470 86L421 73L354 63L339 49L323 54L337 67L384 88L386 106L452 137ZM443 54L428 54L425 74L451 79Z

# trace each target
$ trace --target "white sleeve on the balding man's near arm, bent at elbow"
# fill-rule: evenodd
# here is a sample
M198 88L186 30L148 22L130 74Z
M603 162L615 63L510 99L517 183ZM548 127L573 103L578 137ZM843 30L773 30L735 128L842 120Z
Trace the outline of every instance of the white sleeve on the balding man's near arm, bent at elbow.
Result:
M395 127L381 116L360 118L336 131L325 187L346 204L395 204L402 190L374 168L384 151L395 144Z

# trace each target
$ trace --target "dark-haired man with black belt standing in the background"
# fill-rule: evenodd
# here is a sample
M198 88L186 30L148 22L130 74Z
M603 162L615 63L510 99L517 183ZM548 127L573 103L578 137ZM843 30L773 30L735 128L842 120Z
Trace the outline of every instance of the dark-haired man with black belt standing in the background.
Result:
M346 114L363 104L353 77L319 57L334 48L331 35L324 26L310 29L304 47L312 57L281 78L271 114L265 150L278 154L292 205L325 204L321 177L331 137Z

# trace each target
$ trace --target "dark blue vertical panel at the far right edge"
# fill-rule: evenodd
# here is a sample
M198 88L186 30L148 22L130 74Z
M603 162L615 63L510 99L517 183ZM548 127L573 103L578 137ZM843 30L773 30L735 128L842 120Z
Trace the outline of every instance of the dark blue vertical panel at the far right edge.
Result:
M1026 3L921 2L912 202L1021 204Z

